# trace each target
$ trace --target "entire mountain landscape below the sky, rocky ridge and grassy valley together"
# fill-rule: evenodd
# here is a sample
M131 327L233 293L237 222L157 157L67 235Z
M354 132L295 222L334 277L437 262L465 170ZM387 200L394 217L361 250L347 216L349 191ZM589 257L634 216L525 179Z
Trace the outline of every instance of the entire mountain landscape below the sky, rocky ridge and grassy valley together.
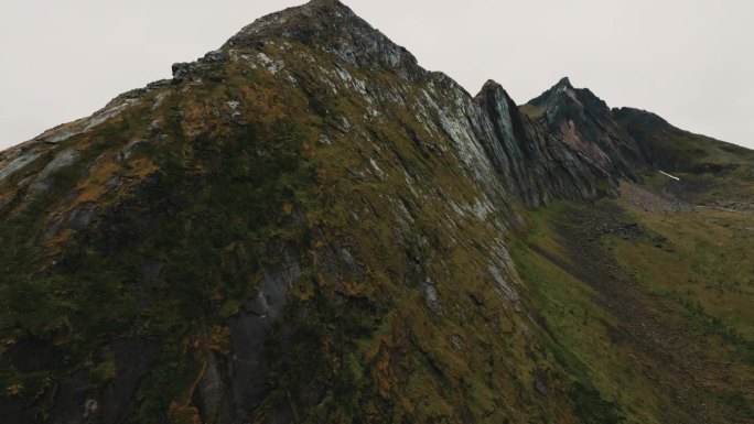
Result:
M0 153L0 421L751 422L753 163L273 13Z

